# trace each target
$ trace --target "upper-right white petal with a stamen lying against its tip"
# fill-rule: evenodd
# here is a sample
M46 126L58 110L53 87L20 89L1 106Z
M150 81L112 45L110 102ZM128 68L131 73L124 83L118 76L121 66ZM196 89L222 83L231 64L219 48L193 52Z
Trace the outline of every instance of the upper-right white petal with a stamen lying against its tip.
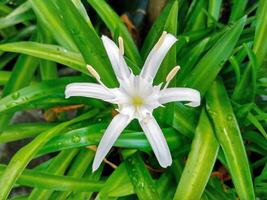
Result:
M176 37L172 34L167 34L162 41L159 41L149 53L144 67L141 71L141 76L149 81L153 81L160 64L165 58L166 54L177 41ZM159 44L160 43L160 44Z

